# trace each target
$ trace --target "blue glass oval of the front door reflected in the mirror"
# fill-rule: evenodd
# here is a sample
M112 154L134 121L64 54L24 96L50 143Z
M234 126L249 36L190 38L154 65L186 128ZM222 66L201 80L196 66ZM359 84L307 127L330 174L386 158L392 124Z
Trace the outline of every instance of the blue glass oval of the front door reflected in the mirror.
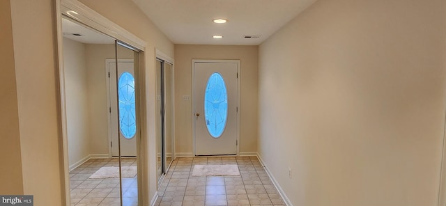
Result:
M134 101L134 77L123 72L118 80L119 128L125 138L137 133L136 109Z

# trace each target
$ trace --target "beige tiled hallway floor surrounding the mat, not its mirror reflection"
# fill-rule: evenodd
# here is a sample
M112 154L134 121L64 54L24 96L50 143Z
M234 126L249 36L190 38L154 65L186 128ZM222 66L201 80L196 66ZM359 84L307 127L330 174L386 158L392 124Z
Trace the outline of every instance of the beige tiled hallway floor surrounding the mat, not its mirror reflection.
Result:
M192 177L195 164L237 164L240 177ZM173 161L155 205L285 205L257 157L183 157Z

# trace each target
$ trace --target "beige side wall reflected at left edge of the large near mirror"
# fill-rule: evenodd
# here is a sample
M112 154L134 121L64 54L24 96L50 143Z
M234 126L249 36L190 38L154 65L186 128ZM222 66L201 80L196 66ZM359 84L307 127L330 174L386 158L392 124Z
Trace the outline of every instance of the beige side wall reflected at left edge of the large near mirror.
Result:
M63 38L65 100L68 132L68 165L90 154L89 101L85 45Z

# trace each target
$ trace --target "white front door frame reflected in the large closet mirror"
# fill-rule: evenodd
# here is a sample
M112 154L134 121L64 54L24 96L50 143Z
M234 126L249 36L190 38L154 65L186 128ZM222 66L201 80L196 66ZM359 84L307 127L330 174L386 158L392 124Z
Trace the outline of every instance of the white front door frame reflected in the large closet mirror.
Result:
M118 63L125 63L125 62L131 62L134 63L132 58L118 58ZM119 125L116 125L118 127L113 128L112 127L112 114L110 113L111 109L112 109L112 100L110 100L110 76L109 76L109 64L110 63L116 63L116 59L114 58L107 58L105 59L105 82L107 84L107 108L109 109L109 112L107 112L107 136L109 138L109 142L108 142L108 148L109 148L109 158L113 157L113 148L112 148L112 129L118 129ZM117 68L116 68L117 69ZM118 77L116 77L116 79L118 79ZM119 106L118 106L119 107ZM119 121L118 121L119 124ZM120 130L118 130L118 138L119 138L119 132L121 132Z

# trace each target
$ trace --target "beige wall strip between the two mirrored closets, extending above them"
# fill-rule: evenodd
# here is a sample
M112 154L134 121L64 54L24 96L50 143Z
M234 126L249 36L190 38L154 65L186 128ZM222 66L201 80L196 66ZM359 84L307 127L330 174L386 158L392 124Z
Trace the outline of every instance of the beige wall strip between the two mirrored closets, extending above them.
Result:
M133 1L82 0L96 12L112 20L146 42L144 62L146 63L145 81L147 95L147 127L146 145L148 147L148 182L149 200L157 187L156 175L156 127L155 127L155 48L174 58L174 44L151 22L150 19L133 3ZM143 137L144 138L144 137Z

